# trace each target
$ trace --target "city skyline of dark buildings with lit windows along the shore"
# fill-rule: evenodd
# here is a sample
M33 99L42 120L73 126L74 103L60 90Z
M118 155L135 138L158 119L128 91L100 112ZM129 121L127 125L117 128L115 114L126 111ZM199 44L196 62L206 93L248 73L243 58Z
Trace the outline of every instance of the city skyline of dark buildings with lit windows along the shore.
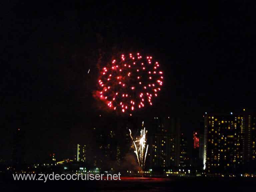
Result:
M149 131L146 138L149 145L148 158L145 161L146 170L160 171L181 168L190 171L200 170L206 174L222 174L227 170L231 173L243 173L242 167L247 166L248 163L253 165L255 162L256 117L252 111L248 111L244 108L240 113L205 112L203 127L198 127L192 135L189 135L192 140L191 146L187 144L189 137L182 133L182 122L177 117L144 118L143 121L138 118L136 125L127 121L123 123L127 132L120 131L118 127L102 131L100 127L95 126L92 128L93 135L91 135L95 139L85 140L78 144L73 143L69 156L63 159L58 158L58 161L70 159L73 162L85 163L89 167L101 167L106 170L110 167L122 169L120 165L127 163L127 156L130 160L137 161L135 154L132 153L132 140L128 130L132 129L137 137L142 123L143 127L147 127ZM211 135L211 132L214 132L212 134L215 136ZM230 133L228 134L228 132ZM11 162L14 164L26 163L25 159L21 159L25 156L22 153L22 151L24 152L24 143L21 130L17 130L16 135L17 142L13 145ZM219 139L217 139L218 137ZM125 139L119 141L119 138ZM92 142L93 140L95 141ZM17 148L17 146L20 147ZM227 152L229 150L231 150L230 154ZM220 156L220 153L225 156ZM55 153L50 154L50 158L50 162L52 160L56 162ZM42 162L44 161L33 163ZM131 170L136 169L138 168L135 167Z

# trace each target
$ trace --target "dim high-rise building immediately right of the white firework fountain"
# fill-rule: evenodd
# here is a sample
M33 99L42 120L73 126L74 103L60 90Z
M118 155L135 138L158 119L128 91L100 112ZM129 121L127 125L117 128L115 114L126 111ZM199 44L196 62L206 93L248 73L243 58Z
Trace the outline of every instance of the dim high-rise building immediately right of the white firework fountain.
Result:
M150 168L178 166L180 120L154 117L148 130Z

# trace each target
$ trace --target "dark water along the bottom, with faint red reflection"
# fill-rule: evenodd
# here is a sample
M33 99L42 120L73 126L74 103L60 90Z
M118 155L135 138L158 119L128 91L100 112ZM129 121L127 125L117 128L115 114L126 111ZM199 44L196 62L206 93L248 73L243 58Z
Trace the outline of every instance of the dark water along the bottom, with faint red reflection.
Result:
M12 175L1 178L0 191L247 191L254 189L255 178L138 178L121 177L121 181L14 181ZM254 191L254 190L253 190Z

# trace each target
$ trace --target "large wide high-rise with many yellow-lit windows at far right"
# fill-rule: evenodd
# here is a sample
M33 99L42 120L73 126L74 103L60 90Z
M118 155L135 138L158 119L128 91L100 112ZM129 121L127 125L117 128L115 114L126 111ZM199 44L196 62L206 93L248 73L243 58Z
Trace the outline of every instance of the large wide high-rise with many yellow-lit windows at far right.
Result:
M255 158L254 116L245 112L206 114L204 120L204 168L208 173L234 171Z

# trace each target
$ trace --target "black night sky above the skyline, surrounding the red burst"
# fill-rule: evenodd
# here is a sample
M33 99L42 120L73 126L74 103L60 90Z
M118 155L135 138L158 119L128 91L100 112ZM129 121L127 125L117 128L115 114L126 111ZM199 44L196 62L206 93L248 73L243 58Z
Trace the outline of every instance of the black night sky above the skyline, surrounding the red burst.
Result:
M205 111L256 108L253 4L1 4L0 158L17 127L30 161L62 158L104 115L92 97L99 51L158 58L165 87L143 114L182 117L188 137Z

